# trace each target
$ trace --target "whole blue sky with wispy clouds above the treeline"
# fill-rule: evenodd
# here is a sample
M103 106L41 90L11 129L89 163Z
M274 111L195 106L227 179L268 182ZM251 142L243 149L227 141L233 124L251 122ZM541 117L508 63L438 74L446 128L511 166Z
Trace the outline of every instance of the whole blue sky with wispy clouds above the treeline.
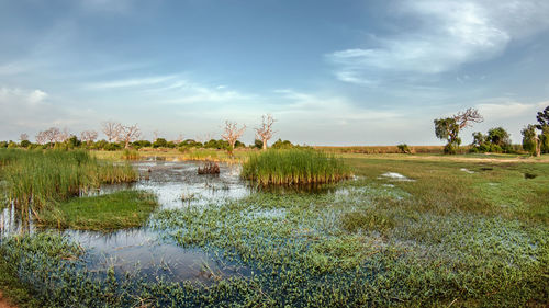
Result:
M444 145L475 107L514 142L549 105L547 0L0 0L0 140L138 124L143 138ZM103 137L100 134L100 137ZM273 141L272 140L272 141Z

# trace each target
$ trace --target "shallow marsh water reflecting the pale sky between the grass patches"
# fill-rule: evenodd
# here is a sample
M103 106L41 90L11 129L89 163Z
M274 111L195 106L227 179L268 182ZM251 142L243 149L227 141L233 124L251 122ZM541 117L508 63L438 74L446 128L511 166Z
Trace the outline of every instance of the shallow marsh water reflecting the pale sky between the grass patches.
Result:
M225 199L244 197L249 189L239 180L239 166L220 164L221 174L199 175L200 162L135 162L141 180L133 184L107 185L100 194L123 189L137 189L157 195L160 209L206 205ZM186 196L186 199L182 199ZM35 231L31 224L23 224L13 207L0 214L1 235L22 230ZM170 281L212 282L215 278L246 274L247 270L225 264L222 259L200 249L183 249L160 239L160 235L147 227L119 230L111 233L65 230L88 251L89 270L113 266L117 274L139 270L149 281L164 276Z

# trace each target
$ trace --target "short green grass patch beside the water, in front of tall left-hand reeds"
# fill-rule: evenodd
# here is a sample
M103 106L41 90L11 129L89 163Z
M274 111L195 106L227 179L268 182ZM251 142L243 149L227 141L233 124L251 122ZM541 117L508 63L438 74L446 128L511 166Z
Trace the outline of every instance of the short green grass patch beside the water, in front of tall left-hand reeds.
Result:
M79 230L114 230L143 226L158 206L156 197L142 191L74 198L41 215L40 224Z

